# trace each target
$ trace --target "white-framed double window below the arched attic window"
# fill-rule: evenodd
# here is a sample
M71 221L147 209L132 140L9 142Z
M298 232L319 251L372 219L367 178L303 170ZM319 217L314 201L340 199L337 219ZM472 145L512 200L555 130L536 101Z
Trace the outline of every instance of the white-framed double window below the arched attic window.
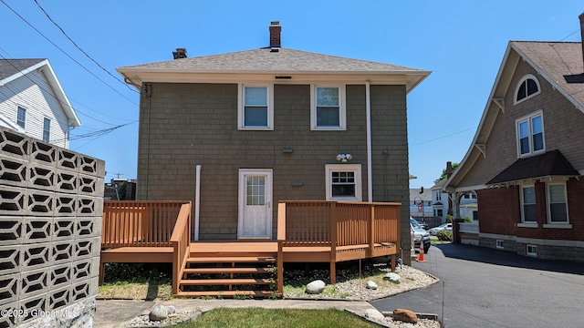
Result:
M519 157L545 150L544 122L541 111L516 120L517 153Z

